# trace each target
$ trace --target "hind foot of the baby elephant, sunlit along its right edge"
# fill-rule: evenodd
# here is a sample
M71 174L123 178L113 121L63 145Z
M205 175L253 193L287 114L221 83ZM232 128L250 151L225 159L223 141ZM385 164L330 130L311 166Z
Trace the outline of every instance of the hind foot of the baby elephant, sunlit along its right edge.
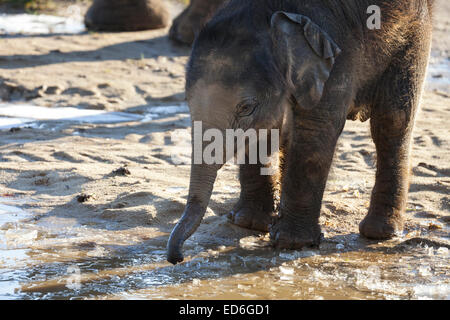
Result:
M369 212L359 224L359 232L368 239L387 240L398 236L403 231L403 225L401 214L386 216Z

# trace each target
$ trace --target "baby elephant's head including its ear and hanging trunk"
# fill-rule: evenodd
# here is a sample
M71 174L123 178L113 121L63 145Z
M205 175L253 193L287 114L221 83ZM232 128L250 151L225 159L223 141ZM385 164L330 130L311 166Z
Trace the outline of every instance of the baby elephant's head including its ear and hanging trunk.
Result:
M193 46L186 82L192 121L222 133L279 129L289 136L293 109L320 102L339 52L306 16L279 11L261 17L224 9ZM202 221L220 167L193 161L187 205L168 243L169 262L183 260L181 247Z

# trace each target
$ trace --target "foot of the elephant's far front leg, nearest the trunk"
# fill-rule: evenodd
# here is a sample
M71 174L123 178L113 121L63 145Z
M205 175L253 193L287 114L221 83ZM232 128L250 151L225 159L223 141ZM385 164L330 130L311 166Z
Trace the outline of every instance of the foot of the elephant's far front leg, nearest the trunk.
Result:
M275 213L273 210L264 210L260 207L256 203L249 202L237 206L228 214L228 221L242 228L268 232Z

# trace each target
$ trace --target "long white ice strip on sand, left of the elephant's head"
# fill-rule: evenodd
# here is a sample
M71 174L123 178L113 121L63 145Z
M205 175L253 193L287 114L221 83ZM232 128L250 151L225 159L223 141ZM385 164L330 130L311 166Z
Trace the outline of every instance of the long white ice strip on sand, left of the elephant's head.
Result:
M143 116L73 107L46 108L26 104L0 103L0 129L33 125L35 121L75 121L84 123L117 123L140 121Z

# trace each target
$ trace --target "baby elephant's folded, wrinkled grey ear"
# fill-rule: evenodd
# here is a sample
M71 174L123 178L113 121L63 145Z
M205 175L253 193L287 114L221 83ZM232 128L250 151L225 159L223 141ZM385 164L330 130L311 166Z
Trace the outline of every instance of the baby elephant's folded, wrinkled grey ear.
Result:
M292 95L300 107L313 108L322 98L341 49L324 30L300 14L275 12L271 30L275 54L292 85Z

